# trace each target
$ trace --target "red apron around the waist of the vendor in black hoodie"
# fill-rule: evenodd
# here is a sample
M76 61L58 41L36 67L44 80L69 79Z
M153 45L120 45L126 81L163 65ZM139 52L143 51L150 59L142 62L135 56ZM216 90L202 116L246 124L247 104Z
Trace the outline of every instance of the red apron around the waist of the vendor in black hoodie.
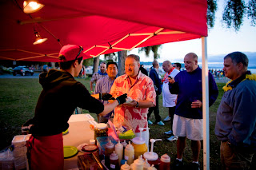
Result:
M53 136L30 136L26 142L30 169L64 168L62 133Z

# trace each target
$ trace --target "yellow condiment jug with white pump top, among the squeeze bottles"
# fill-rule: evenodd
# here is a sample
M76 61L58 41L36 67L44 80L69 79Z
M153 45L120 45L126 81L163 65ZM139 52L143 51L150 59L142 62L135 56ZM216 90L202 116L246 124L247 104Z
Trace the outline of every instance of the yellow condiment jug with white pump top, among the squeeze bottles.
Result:
M132 139L132 144L134 146L134 159L138 159L138 156L147 152L146 142L142 139L142 130L144 129L146 128L138 128L140 131L139 137L134 137L134 139Z

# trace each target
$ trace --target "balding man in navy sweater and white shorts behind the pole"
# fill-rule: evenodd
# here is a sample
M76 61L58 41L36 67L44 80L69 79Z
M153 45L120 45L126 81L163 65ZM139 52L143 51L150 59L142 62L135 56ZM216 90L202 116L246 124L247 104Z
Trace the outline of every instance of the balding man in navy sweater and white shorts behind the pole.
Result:
M188 53L184 57L185 71L169 78L170 93L178 94L174 113L173 131L177 140L177 158L174 169L182 167L182 153L186 147L186 138L191 140L193 152L192 169L200 169L198 164L202 140L202 69L198 66L198 56ZM218 88L214 77L209 73L209 105L218 97Z

